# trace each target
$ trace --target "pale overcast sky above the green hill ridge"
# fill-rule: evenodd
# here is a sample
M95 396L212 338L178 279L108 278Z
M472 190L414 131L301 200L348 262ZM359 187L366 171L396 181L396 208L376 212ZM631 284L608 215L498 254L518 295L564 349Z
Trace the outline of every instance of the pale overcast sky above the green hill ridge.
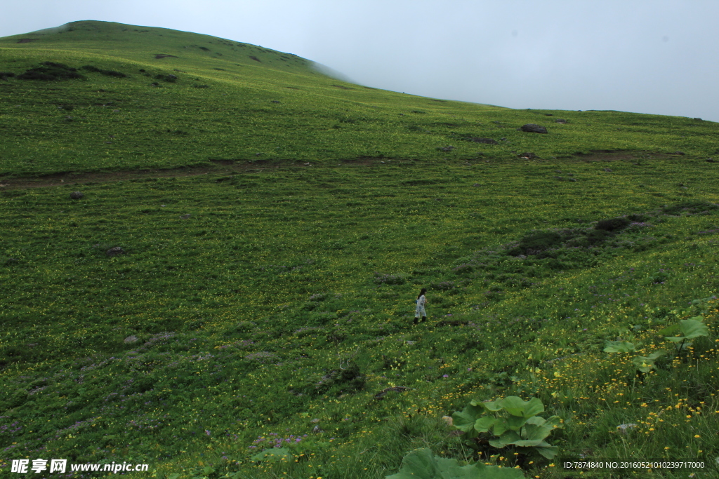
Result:
M510 108L719 121L716 0L0 0L0 37L76 20L290 52L362 85Z

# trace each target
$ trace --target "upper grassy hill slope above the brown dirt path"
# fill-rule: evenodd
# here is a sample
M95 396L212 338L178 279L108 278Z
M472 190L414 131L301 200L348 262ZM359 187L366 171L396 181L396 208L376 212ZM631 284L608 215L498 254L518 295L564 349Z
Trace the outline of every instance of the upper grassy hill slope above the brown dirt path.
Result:
M0 39L0 61L0 129L21 139L0 145L6 177L257 159L552 159L595 150L703 161L716 149L708 121L404 95L329 78L294 55L166 29L73 22ZM78 69L81 78L19 79L47 69L43 62ZM518 131L523 124L549 134Z

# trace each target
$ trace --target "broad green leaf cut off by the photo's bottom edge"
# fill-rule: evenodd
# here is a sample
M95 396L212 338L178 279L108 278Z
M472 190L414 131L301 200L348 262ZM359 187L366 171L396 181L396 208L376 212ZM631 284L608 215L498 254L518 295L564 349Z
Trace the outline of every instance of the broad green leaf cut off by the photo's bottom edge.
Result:
M435 457L429 448L410 452L400 472L385 479L522 479L521 470L487 466L482 462L460 466L456 459Z

